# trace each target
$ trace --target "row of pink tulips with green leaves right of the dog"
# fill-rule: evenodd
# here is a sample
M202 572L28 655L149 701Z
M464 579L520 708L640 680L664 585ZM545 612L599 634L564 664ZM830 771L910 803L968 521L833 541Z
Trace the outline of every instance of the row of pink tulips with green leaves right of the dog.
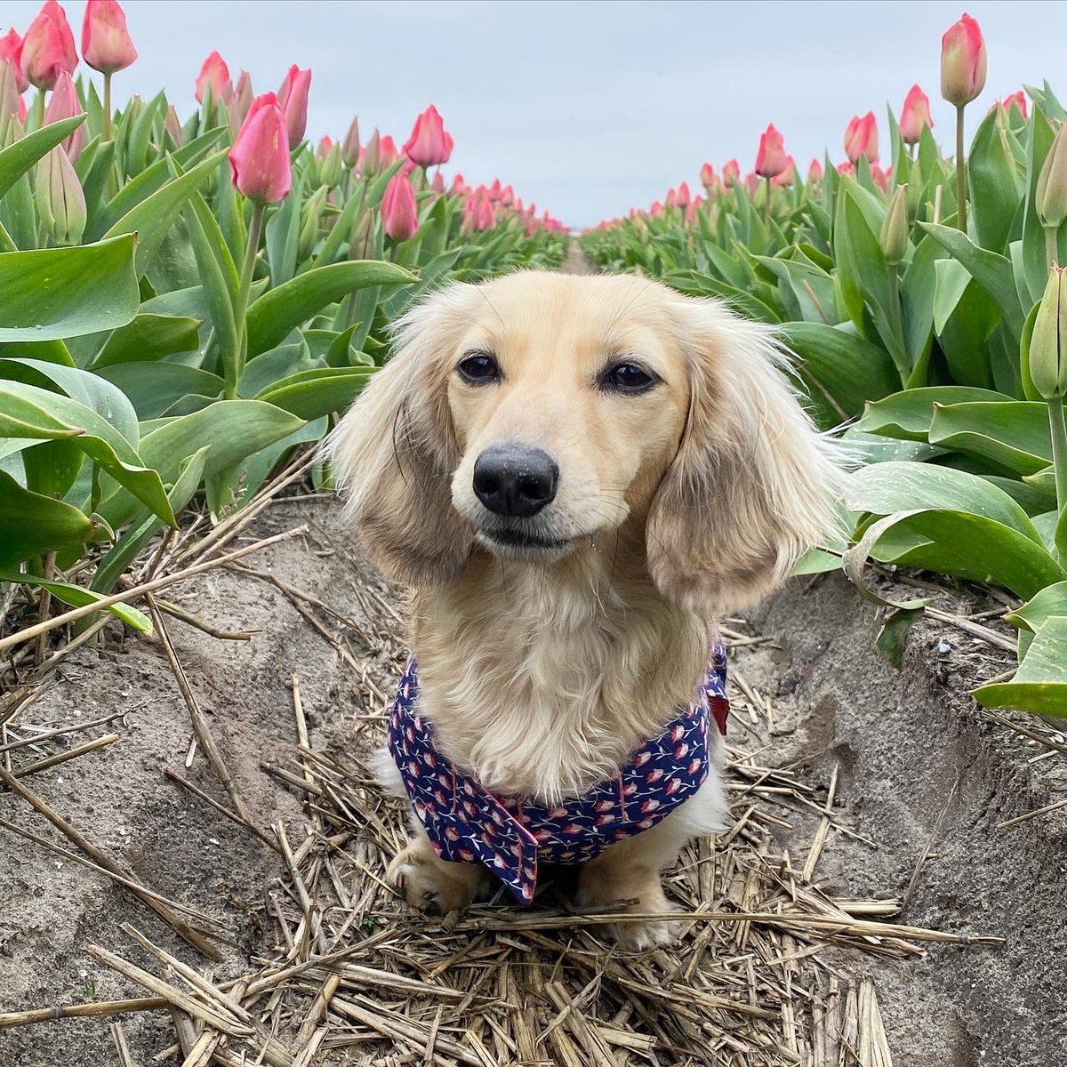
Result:
M778 328L816 420L861 464L845 501L853 537L801 569L843 560L889 611L891 658L928 601L879 596L867 559L999 586L1021 602L1006 617L1020 667L977 699L1067 715L1067 111L1048 84L1028 89L965 146L985 74L965 16L942 47L955 155L917 85L889 114L888 160L875 116L857 116L847 159L813 160L801 179L771 126L748 177L733 160L721 176L704 164L703 195L683 182L582 242L601 269L724 298Z

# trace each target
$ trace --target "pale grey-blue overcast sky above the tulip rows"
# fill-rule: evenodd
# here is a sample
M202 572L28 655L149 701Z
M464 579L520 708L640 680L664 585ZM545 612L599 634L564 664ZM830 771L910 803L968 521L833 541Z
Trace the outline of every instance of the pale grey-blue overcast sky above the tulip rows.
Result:
M80 38L82 3L65 4ZM959 0L918 2L343 2L128 0L141 58L116 94L165 86L182 115L204 57L218 48L236 80L276 89L290 63L310 66L308 134L344 134L353 114L398 143L435 103L456 138L448 174L500 177L573 226L648 206L669 185L699 185L706 159L750 170L774 122L807 169L828 146L844 156L853 114L899 109L918 81L936 132L952 141L939 97L941 34ZM2 0L25 32L39 7ZM1048 78L1067 97L1067 2L978 0L968 6L989 48L986 92ZM365 133L365 136L366 136Z

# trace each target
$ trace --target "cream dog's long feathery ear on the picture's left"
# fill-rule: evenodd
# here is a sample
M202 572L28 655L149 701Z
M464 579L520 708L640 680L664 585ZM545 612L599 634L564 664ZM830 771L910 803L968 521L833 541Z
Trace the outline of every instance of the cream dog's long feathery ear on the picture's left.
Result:
M345 513L371 560L410 585L447 580L471 552L472 530L452 507L459 446L448 410L452 351L469 325L475 287L456 284L410 309L394 356L327 444Z

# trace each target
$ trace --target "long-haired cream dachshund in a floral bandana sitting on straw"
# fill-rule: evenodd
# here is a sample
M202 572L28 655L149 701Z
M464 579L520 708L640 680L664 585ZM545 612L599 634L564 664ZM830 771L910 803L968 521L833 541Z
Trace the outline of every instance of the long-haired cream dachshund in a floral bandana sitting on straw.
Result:
M667 942L662 872L728 823L716 620L834 526L832 443L770 328L647 277L453 283L393 339L328 444L367 554L412 590L389 875L447 913L501 880L529 899L562 857L578 906L646 917L615 925L624 947Z

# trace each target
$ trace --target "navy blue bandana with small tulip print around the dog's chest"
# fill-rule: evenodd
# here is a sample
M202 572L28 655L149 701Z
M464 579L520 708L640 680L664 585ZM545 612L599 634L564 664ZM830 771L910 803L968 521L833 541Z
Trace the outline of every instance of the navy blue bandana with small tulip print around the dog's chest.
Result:
M443 755L417 708L418 673L409 660L389 715L388 749L437 855L481 863L524 904L537 890L538 861L584 863L623 838L651 829L692 797L708 769L708 720L727 731L727 650L712 648L695 703L646 740L611 778L577 797L545 805L496 796Z

